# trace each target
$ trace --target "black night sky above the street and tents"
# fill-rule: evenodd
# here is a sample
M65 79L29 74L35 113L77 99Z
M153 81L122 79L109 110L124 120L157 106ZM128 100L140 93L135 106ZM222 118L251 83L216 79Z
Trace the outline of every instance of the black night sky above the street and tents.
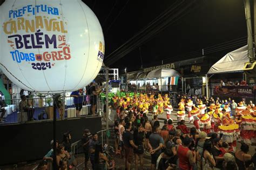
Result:
M170 63L199 57L201 49L205 49L205 56L221 58L226 52L246 44L244 1L198 0L183 12L180 11L184 6L176 8L169 16L171 18L180 12L175 22L170 23L162 31L153 33L150 38L148 37L146 41L113 63L111 62L113 56L110 54L145 28L160 13L172 8L177 2L186 5L192 0L84 0L84 2L95 12L102 25L106 46L104 62L112 68L121 70L127 67L128 71L133 71L138 70L142 64L146 67L159 65L161 60ZM160 23L167 22L163 20L159 25ZM229 41L230 44L227 44ZM123 51L129 49L129 45L133 43L127 44ZM191 52L194 53L187 54ZM117 52L114 57L119 53ZM109 55L111 57L108 58Z

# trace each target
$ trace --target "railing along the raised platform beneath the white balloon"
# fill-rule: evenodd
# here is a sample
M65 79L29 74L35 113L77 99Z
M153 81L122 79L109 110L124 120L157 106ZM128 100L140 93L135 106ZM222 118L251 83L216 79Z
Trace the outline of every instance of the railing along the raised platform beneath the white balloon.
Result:
M69 119L76 117L91 116L92 96L82 96L82 106L79 114L76 112L76 106L73 97L59 97L58 107L56 109L57 119ZM47 121L53 119L53 97L34 97L21 99L0 100L2 108L0 110L0 125L11 123L25 123L26 121ZM8 103L8 105L5 105ZM97 97L97 107L99 108L99 99ZM99 109L98 109L99 110ZM98 111L96 110L96 114Z

